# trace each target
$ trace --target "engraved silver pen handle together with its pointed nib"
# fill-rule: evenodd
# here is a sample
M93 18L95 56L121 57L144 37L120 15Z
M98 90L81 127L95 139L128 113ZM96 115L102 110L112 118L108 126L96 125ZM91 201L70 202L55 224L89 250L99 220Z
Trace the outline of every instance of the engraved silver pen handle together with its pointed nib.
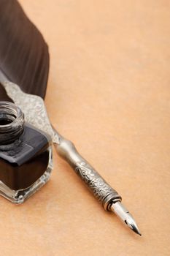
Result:
M56 132L55 129L54 132ZM141 236L134 218L121 203L122 198L117 191L112 189L107 181L78 153L71 141L64 139L58 133L57 135L60 136L59 143L55 143L58 154L72 166L106 211L113 211L131 230Z

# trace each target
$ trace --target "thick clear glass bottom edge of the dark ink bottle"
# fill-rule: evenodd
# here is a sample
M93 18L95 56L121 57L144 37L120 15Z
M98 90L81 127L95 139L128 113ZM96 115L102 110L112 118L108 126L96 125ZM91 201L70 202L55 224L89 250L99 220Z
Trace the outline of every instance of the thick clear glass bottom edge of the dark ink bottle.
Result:
M53 169L53 151L52 147L49 149L49 162L47 166L47 170L45 173L32 184L30 187L22 190L12 190L7 185L5 185L2 181L0 181L0 195L10 200L12 203L23 203L28 197L33 195L37 190L39 190L42 186L44 186L47 181L50 179L50 174Z

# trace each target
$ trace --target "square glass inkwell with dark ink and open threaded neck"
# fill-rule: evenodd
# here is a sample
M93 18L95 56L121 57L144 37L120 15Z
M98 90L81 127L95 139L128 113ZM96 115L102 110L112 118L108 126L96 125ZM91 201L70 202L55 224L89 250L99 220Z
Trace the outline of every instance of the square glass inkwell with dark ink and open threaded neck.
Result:
M0 101L0 195L23 203L50 178L50 135L25 123L23 112Z

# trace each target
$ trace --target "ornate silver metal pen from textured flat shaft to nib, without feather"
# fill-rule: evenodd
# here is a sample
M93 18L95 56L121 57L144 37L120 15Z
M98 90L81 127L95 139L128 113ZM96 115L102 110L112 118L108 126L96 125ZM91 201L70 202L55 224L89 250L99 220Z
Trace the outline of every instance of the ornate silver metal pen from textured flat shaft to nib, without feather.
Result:
M78 153L74 143L63 138L50 124L43 99L36 95L24 93L21 91L20 87L14 83L6 82L3 83L3 86L8 96L23 110L26 121L51 135L58 155L69 163L74 172L77 173L88 186L90 192L102 203L104 209L106 211L113 211L123 220L125 225L141 236L134 218L121 203L122 198L120 195L115 189L112 189L107 181L105 181L88 161Z

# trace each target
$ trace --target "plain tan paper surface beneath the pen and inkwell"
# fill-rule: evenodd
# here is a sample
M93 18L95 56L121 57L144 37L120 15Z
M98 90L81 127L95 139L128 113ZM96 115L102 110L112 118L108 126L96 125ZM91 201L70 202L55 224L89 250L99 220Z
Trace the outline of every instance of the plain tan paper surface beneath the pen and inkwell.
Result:
M50 47L55 127L117 189L142 237L56 156L22 206L1 198L0 255L169 255L170 2L20 0Z

